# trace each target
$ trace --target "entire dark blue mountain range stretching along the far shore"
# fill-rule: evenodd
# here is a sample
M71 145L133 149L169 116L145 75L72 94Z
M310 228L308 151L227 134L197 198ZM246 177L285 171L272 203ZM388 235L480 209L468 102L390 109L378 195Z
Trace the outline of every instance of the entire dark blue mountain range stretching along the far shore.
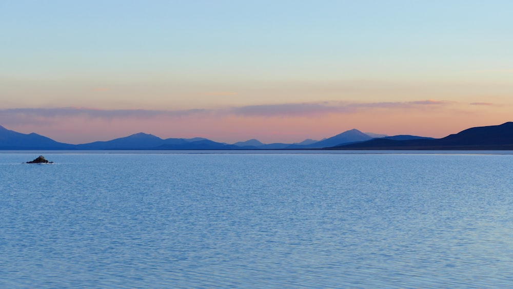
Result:
M419 136L364 133L350 129L320 141L307 139L300 143L264 144L256 139L233 144L205 138L161 139L147 133L110 141L86 144L56 142L37 133L20 133L0 126L2 150L208 150L208 149L340 149L340 150L509 150L513 149L513 122L497 126L473 127L441 139Z

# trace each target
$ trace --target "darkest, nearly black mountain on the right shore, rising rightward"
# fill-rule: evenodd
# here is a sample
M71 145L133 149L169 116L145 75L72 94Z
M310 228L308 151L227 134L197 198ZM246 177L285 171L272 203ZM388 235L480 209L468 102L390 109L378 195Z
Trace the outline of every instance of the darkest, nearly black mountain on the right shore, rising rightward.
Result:
M330 149L511 150L513 149L513 122L472 127L442 139L392 140L382 138Z

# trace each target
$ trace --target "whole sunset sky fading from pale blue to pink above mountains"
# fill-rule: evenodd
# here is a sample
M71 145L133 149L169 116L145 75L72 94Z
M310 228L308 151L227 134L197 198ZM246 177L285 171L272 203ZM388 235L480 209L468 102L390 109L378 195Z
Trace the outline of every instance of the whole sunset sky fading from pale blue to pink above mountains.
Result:
M513 1L0 0L0 125L87 143L513 121Z

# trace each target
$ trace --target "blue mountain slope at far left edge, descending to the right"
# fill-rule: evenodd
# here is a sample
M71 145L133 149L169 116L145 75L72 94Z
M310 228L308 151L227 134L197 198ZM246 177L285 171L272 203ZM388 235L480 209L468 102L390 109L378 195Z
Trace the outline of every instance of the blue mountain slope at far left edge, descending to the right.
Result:
M73 149L37 133L20 133L0 126L0 149Z

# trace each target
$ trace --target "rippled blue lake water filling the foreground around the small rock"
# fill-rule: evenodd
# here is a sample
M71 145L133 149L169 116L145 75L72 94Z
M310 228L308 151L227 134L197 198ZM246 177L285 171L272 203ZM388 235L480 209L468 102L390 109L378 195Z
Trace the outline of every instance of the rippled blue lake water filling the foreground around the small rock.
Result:
M0 153L0 287L513 284L513 156Z

